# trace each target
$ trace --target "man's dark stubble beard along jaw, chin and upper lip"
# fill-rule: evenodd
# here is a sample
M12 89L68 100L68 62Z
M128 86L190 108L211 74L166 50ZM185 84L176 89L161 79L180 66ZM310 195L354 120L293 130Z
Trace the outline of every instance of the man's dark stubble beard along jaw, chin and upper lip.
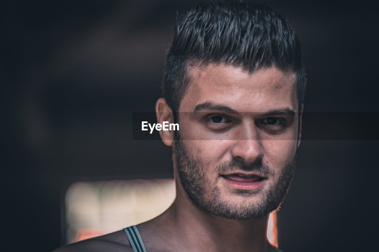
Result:
M238 196L238 198L243 198L245 204L241 204L241 201L233 202L222 198L221 189L216 185L221 177L217 177L210 198L206 199L205 185L209 184L209 179L205 171L207 171L208 165L200 157L191 158L189 156L179 134L175 134L174 148L180 183L188 198L205 212L234 220L257 219L278 209L290 187L296 162L295 154L293 160L287 163L280 172L277 184L271 185L269 188L260 188L260 190L255 191L230 188L230 193ZM216 172L236 170L254 171L272 177L275 174L272 168L262 164L262 160L246 164L241 160L233 159L216 167ZM249 197L257 194L261 195L260 200L248 203Z

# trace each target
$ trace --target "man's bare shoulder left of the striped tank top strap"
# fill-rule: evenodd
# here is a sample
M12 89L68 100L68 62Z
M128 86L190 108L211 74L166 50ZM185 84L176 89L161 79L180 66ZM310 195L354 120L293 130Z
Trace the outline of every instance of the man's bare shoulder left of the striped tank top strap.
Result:
M54 252L133 252L124 230L68 244Z

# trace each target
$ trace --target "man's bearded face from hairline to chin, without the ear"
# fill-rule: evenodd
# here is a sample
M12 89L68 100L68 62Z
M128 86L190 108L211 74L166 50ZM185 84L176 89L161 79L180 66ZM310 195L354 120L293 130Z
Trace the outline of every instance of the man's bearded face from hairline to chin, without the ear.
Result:
M294 170L299 117L293 73L209 64L190 74L174 140L180 185L215 215L267 215L279 206Z

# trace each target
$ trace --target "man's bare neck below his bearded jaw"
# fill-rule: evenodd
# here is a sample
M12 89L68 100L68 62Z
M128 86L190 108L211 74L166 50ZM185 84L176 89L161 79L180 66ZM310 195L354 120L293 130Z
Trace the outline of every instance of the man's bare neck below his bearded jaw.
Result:
M176 251L266 252L274 249L266 241L267 218L222 218L200 209L178 190L171 207L152 222L162 232L162 244L168 242Z

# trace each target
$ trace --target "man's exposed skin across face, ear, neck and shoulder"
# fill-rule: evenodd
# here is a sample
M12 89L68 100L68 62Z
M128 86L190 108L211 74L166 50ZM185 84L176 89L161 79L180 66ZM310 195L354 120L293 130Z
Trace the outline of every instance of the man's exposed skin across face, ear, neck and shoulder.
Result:
M279 206L284 195L277 196L278 190L287 190L299 145L299 106L293 73L276 67L249 73L224 64L193 67L189 73L191 81L179 107L180 136L174 137L174 131L160 131L162 141L173 146L177 198L162 215L137 225L146 250L279 251L266 241L266 224L268 213ZM294 114L267 115L273 111ZM174 123L163 98L157 101L156 112L158 123ZM180 158L183 151L189 163ZM281 177L286 169L287 175ZM194 177L201 190L191 196L184 180L194 170L201 174L197 180ZM264 177L260 188L232 188L223 175L238 172L260 173ZM246 215L246 211L240 214L265 205L270 190L279 199L268 204L269 208L253 215ZM235 215L224 216L215 210L210 203L216 200L233 208ZM124 231L57 251L110 250L133 251Z

